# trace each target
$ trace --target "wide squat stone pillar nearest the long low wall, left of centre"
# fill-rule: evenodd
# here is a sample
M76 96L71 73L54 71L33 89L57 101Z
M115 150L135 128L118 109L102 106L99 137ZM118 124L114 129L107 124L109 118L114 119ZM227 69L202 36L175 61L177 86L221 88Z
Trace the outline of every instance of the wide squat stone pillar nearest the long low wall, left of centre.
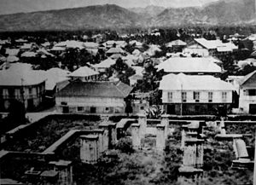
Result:
M80 136L80 159L83 163L96 164L99 156L99 136Z

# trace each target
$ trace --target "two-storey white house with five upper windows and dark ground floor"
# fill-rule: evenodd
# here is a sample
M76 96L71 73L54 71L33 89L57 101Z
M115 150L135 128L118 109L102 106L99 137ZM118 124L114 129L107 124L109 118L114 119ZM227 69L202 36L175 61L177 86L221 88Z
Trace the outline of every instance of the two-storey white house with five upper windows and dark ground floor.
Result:
M210 75L168 74L160 81L162 103L169 114L215 114L230 108L234 87Z

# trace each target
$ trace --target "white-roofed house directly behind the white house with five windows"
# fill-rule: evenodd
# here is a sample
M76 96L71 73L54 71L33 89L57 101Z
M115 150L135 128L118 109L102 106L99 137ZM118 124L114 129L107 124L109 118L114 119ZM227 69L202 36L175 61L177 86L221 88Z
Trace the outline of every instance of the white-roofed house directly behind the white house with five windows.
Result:
M171 57L155 66L158 71L164 70L166 73L185 74L219 74L222 72L212 58L209 57Z

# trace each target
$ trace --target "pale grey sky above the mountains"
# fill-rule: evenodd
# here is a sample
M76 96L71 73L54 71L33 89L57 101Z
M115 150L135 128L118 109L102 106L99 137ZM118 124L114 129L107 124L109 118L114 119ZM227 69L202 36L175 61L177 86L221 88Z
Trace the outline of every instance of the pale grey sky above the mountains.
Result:
M124 8L202 6L218 0L0 0L0 14L14 14L48 9L67 9L97 4L117 4Z

